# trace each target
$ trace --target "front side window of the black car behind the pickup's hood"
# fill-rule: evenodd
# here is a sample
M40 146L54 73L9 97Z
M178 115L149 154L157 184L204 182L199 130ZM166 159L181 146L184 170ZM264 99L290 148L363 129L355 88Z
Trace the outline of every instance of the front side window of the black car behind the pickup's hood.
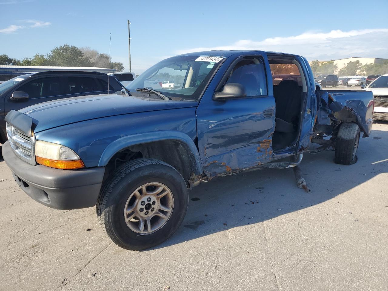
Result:
M17 91L27 92L30 99L64 95L61 87L61 78L40 78L27 82Z

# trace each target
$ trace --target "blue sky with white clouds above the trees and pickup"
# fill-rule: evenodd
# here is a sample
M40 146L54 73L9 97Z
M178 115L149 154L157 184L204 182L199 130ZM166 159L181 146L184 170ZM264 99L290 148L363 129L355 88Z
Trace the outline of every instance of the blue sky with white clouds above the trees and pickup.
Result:
M68 43L109 53L141 73L172 55L263 49L309 60L388 58L388 0L0 0L0 54L22 59Z

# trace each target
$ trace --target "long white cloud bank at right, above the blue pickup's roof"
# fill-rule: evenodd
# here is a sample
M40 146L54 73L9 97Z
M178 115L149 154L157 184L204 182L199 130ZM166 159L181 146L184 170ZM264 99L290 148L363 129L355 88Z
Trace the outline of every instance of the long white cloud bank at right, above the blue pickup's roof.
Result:
M371 45L371 43L373 45ZM307 31L300 35L265 40L238 40L230 45L178 50L177 54L203 50L272 50L299 54L307 59L340 59L343 57L387 57L388 29L359 29L330 32Z

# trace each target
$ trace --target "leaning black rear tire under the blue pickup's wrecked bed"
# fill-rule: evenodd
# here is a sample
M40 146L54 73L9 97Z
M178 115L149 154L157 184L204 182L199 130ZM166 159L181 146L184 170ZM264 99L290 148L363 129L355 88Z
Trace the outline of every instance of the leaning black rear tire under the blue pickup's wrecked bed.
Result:
M352 165L357 162L357 149L360 140L360 128L356 123L343 122L336 138L334 163Z

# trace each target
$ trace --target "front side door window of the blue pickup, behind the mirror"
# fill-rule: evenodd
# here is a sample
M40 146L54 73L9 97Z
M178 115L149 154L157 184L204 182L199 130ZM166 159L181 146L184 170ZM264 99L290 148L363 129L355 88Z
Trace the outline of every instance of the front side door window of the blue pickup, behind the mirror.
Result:
M246 97L267 95L265 69L258 58L238 62L226 83L239 83L244 86Z

